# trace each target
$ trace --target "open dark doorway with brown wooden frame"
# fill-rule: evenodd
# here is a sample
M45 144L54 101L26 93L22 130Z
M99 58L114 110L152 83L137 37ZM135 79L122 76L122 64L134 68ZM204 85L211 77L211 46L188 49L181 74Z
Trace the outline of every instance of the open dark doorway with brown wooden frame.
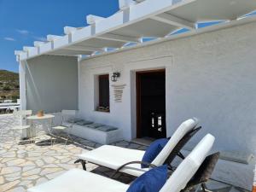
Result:
M137 72L137 137L166 137L166 71Z

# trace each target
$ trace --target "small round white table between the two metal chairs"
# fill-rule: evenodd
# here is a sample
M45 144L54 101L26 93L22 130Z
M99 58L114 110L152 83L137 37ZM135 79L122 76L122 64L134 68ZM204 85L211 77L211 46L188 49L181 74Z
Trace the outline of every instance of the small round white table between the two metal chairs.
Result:
M29 124L31 125L31 130L29 133L29 137L35 137L37 135L35 129L33 128L33 124L35 121L40 122L43 125L43 122L45 121L49 121L49 125L47 126L47 130L50 133L50 129L51 129L51 125L52 125L52 121L55 118L55 115L53 114L44 114L44 116L42 117L38 117L38 115L32 115L27 117L26 119L29 121Z

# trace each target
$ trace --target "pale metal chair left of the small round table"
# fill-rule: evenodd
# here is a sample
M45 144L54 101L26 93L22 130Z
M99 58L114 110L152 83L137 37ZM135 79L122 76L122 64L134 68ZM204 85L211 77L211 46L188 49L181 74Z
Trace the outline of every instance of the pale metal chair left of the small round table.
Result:
M21 110L21 111L14 111L15 118L20 119L20 125L16 125L12 128L14 139L16 137L22 137L24 131L26 131L26 137L23 137L23 141L29 141L31 143L31 125L22 125L22 122L26 120L27 116L32 115L32 110ZM18 142L19 144L19 142Z

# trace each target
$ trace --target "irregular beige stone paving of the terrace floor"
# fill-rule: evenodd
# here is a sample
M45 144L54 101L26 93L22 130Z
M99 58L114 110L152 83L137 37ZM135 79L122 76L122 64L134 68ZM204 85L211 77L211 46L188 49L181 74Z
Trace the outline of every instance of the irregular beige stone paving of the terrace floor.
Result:
M74 143L58 139L51 146L49 137L41 135L38 143L17 143L12 127L17 125L12 115L0 115L0 192L23 192L26 189L44 183L72 168L82 167L73 164L77 154L101 146L79 137L73 137ZM48 141L48 143L44 143ZM137 143L121 141L113 143L119 147L145 149ZM101 175L110 175L113 171L92 164L87 165L88 171ZM134 177L122 174L118 178L123 183L130 183ZM209 181L207 189L212 191L244 191L226 183Z

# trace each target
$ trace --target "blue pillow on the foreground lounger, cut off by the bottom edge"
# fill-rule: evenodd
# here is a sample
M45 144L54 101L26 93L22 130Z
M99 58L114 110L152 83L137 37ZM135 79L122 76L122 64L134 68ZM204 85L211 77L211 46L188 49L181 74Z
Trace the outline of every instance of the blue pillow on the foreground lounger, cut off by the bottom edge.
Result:
M159 166L145 172L131 183L127 192L159 192L167 180L167 166Z

